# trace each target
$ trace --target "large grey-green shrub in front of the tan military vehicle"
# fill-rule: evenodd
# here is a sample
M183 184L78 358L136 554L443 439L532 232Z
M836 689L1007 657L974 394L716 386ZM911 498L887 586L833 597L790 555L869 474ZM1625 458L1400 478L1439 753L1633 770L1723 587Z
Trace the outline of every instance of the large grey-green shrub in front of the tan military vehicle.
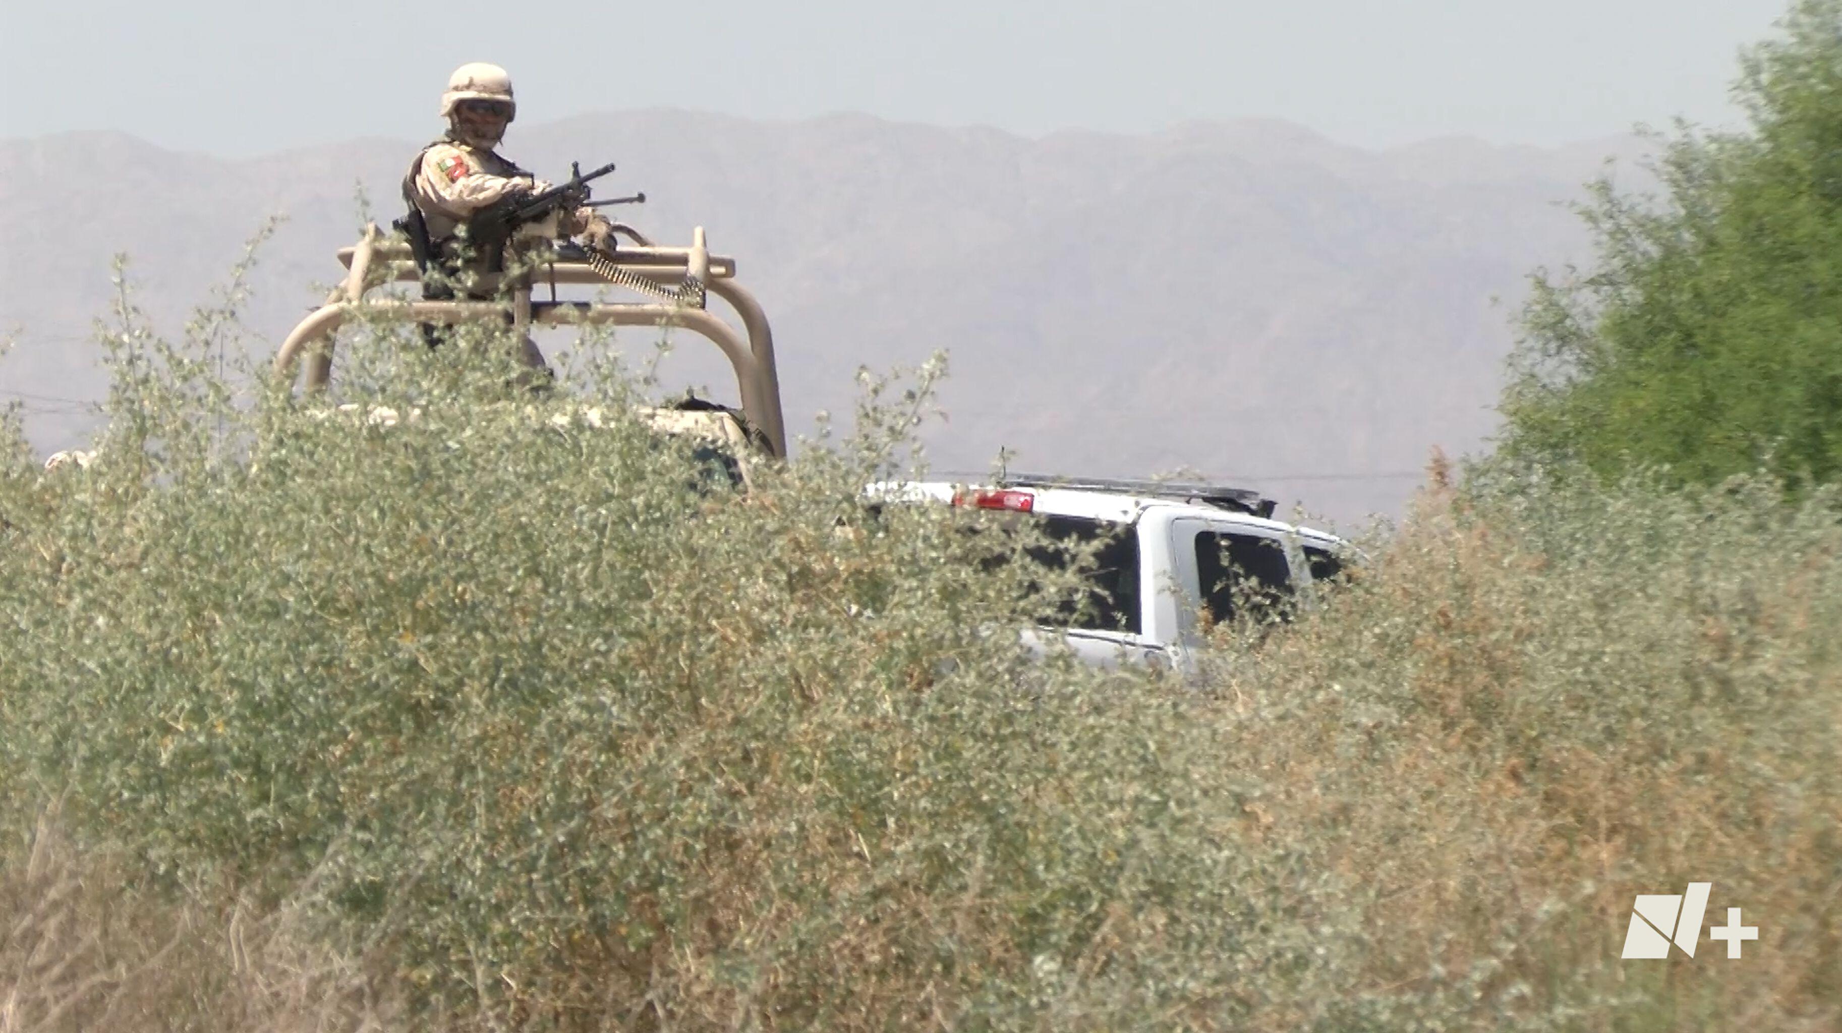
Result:
M125 315L96 460L7 479L15 814L179 899L317 900L427 1015L1207 1024L1332 972L1197 696L1028 667L1024 587L1068 578L1028 532L991 565L963 514L866 516L925 383L740 493L608 366L530 400L374 342L339 411L239 398L223 311Z

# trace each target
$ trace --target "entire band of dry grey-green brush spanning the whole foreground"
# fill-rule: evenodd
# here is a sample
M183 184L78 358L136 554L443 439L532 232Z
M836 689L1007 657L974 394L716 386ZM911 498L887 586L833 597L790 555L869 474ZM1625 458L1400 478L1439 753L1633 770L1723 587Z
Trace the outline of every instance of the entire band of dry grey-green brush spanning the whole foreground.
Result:
M1822 492L1435 484L1184 683L1028 663L1024 589L1068 587L1030 534L866 514L932 372L739 493L608 363L532 400L374 335L339 411L239 394L234 337L127 313L96 462L0 449L26 1026L1842 1018ZM24 834L48 807L68 849ZM1761 926L1748 958L1619 961L1632 895L1687 880Z

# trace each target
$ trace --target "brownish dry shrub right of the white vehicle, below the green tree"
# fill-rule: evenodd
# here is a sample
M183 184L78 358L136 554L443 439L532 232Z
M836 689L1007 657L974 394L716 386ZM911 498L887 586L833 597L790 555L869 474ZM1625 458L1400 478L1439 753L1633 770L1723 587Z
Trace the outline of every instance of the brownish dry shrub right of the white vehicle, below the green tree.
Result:
M1249 807L1396 937L1363 961L1394 992L1345 1000L1352 1026L1842 1018L1836 501L1439 481L1330 606L1232 654L1214 692ZM1621 961L1634 895L1691 880L1708 926L1759 926L1744 959L1704 937Z

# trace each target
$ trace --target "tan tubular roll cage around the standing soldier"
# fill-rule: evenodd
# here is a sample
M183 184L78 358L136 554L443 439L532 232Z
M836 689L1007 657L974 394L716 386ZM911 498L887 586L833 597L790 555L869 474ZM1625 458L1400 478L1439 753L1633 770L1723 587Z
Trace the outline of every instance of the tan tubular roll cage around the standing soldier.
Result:
M623 243L608 263L623 278L656 284L667 291L696 280L735 309L746 339L700 304L556 300L558 284L632 287L608 278L586 261L545 261L525 282L514 282L505 302L370 298L367 295L385 284L420 282L409 241L370 225L365 226L357 245L339 249L339 261L346 267L344 282L282 341L282 348L274 354L274 374L291 377L295 363L306 357L302 363L306 389L324 390L333 370L333 333L352 317L453 324L475 319L503 320L510 315L512 330L519 335L532 324L676 326L709 339L722 350L735 370L742 414L761 431L768 449L785 458L787 425L781 418L779 374L774 368L774 333L761 304L735 284L735 260L709 254L702 226L693 232L691 247L658 247L632 226L619 223L615 230L634 241L632 247ZM479 287L497 289L492 280L495 278L488 276ZM549 285L551 300L532 300L532 282Z

